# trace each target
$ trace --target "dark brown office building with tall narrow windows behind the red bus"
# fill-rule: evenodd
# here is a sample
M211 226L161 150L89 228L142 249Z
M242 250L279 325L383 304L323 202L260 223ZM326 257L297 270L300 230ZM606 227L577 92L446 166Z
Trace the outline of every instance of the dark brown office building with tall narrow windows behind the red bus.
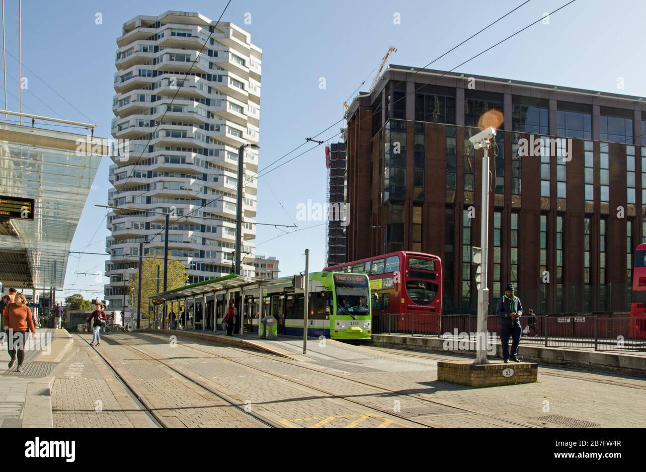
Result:
M475 313L483 151L468 138L492 125L492 302L511 282L536 313L627 311L645 120L640 97L391 66L348 112L346 259L382 254L386 225L388 252L442 258L444 313Z

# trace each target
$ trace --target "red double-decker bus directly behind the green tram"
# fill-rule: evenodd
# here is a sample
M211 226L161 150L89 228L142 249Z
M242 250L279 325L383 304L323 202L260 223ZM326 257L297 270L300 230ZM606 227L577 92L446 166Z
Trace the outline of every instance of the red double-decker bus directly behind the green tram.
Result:
M370 278L372 313L401 314L401 329L435 333L442 313L442 261L424 252L397 251L326 267L326 271L365 273ZM415 315L415 316L411 316ZM428 316L423 316L428 315Z

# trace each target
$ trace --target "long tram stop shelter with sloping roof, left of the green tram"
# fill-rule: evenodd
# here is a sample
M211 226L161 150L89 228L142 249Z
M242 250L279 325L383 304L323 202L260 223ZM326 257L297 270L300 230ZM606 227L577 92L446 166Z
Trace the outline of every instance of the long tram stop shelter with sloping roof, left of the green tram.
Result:
M245 329L253 332L258 329L258 320L263 316L262 303L258 303L263 283L269 282L229 274L153 295L150 297L149 311L155 312L155 318L164 329L215 332L221 325L229 302L233 301L238 314L244 315L242 333L240 316L236 319L234 333L244 334ZM162 314L157 316L160 308Z

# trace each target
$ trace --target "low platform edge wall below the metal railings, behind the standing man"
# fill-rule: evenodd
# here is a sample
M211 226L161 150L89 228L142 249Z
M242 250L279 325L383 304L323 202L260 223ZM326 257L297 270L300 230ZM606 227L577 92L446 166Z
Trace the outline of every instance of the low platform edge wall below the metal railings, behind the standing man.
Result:
M415 336L399 336L393 334L373 334L372 345L384 347L399 347L413 351L434 351L440 353L474 354L475 349L469 342L467 349L444 349L441 338L422 338ZM496 345L495 356L502 354L500 345ZM646 356L634 356L628 353L605 353L599 351L576 351L559 347L541 347L521 345L518 348L519 357L538 364L566 365L583 369L601 369L603 371L623 373L627 375L646 377ZM495 357L492 356L492 357Z

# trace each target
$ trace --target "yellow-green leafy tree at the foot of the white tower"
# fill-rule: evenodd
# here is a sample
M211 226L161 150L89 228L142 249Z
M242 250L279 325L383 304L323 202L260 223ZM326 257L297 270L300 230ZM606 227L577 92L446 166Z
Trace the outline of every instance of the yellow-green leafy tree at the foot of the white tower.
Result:
M160 268L160 289L157 290L157 267ZM187 284L189 275L186 273L186 267L182 261L168 259L168 280L167 290L174 290ZM134 272L130 277L130 294L129 303L133 311L137 310L139 288L139 271ZM151 300L149 297L163 291L163 260L161 259L144 259L141 263L141 318L152 320L152 313L148 310Z

